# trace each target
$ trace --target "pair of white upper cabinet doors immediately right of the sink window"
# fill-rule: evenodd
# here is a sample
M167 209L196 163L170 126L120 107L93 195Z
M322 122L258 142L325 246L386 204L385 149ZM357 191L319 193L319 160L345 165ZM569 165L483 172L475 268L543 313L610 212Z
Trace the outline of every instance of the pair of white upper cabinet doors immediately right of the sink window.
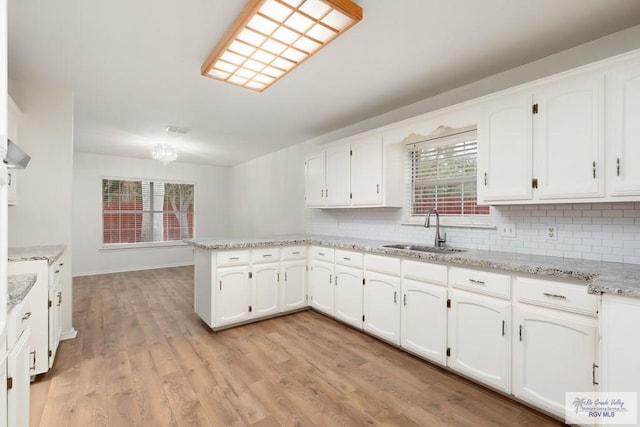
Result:
M603 93L591 72L489 101L478 123L480 203L602 198Z

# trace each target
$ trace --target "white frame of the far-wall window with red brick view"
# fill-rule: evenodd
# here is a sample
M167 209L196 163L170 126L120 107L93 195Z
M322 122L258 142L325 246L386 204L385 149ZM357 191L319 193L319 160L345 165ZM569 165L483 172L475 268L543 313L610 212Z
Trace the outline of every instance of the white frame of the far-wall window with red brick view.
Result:
M104 181L105 180L113 180L113 181L133 181L133 182L151 182L151 183L164 183L164 184L187 184L193 186L193 201L191 202L193 208L193 219L192 219L192 237L191 239L196 237L196 215L195 215L195 199L196 199L196 183L192 181L181 181L181 180L173 180L173 179L163 179L163 178L138 178L138 177L119 177L119 176L102 176L100 177L100 226L101 226L101 238L100 245L98 247L99 250L121 250L121 249L145 249L145 248L159 248L159 247L179 247L179 246L188 246L182 239L178 240L158 240L152 242L130 242L130 243L105 243L104 242L104 233L105 233L105 222L104 222ZM153 196L151 197L153 198ZM136 211L138 212L138 211ZM145 211L146 212L146 211ZM149 211L153 216L154 213L165 213L165 212L173 212L173 211L165 211L165 210L151 210ZM152 222L153 223L153 222Z

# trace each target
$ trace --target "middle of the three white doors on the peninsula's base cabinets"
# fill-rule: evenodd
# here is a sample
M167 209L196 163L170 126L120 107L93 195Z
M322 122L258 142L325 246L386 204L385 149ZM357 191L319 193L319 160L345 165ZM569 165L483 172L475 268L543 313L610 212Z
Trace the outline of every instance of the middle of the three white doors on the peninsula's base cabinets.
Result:
M253 317L262 317L280 311L278 295L280 263L270 262L253 266Z

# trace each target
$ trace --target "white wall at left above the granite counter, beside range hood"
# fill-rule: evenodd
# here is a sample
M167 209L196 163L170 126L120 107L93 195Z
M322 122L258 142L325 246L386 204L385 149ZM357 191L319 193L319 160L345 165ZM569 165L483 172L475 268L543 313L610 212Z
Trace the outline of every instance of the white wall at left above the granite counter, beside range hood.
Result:
M31 156L28 167L18 171L17 205L9 207L9 246L66 245L62 331L69 333L73 94L14 80L9 81L9 94L22 110L18 145Z

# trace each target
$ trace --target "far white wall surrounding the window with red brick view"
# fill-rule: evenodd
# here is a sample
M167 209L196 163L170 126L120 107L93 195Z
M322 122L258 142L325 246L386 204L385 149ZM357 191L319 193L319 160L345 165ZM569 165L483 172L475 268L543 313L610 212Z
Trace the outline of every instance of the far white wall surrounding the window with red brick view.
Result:
M195 184L196 237L228 236L229 169L156 160L75 153L73 163L73 275L193 264L189 246L100 249L102 178L148 178Z

